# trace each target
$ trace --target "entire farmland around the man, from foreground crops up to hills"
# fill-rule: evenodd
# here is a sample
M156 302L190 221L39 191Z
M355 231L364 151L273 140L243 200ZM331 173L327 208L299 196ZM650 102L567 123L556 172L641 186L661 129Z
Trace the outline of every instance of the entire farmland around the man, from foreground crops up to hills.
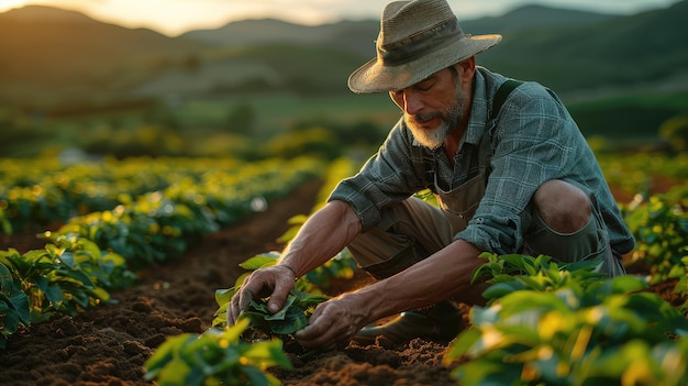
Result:
M256 299L221 329L222 310L399 119L346 87L377 15L173 37L0 12L0 386L688 385L688 0L669 2L462 22L504 36L478 65L567 106L636 238L630 275L484 254L491 300L462 308L450 344L329 352L291 334L371 280L346 250L276 315Z

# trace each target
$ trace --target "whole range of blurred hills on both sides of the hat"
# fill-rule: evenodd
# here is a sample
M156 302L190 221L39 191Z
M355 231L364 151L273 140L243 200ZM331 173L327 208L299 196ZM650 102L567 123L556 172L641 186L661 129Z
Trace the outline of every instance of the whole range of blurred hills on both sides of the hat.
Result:
M528 5L462 24L468 33L504 35L479 64L580 92L685 79L687 18L684 0L629 16ZM348 92L346 77L374 55L377 32L373 20L318 26L246 20L168 37L30 5L0 13L0 102L274 88Z

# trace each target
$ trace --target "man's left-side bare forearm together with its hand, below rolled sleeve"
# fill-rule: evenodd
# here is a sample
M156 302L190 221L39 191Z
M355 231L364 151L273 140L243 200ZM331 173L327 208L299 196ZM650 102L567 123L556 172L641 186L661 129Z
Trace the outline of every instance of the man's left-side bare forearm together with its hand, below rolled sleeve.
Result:
M360 221L348 203L330 201L306 221L277 265L257 269L244 280L228 308L228 323L234 324L256 297L269 296L268 309L279 311L295 279L332 258L360 229Z

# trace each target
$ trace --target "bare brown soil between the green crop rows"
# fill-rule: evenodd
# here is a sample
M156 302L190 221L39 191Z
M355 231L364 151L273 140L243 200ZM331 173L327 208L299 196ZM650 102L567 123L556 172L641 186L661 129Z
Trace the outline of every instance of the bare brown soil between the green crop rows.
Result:
M143 364L155 349L166 337L206 331L218 308L215 289L233 285L243 273L238 263L280 250L284 245L276 240L287 230L287 219L309 213L319 188L319 181L306 184L266 212L209 235L180 260L147 268L135 286L112 294L116 304L10 337L0 351L0 385L151 385L143 379ZM0 250L25 252L43 245L30 233L0 236ZM359 273L353 282L366 279ZM357 283L339 283L332 290ZM650 290L677 304L672 289L665 284ZM446 344L423 340L400 348L351 343L306 361L295 359L292 371L274 372L286 385L456 385L452 366L442 364L446 350Z

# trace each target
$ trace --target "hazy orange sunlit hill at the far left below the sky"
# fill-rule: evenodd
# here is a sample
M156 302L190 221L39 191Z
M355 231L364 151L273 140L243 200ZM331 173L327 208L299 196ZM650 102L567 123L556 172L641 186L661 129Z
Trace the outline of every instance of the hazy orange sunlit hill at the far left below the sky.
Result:
M199 42L27 5L0 13L0 100L40 104L120 92L203 49Z

